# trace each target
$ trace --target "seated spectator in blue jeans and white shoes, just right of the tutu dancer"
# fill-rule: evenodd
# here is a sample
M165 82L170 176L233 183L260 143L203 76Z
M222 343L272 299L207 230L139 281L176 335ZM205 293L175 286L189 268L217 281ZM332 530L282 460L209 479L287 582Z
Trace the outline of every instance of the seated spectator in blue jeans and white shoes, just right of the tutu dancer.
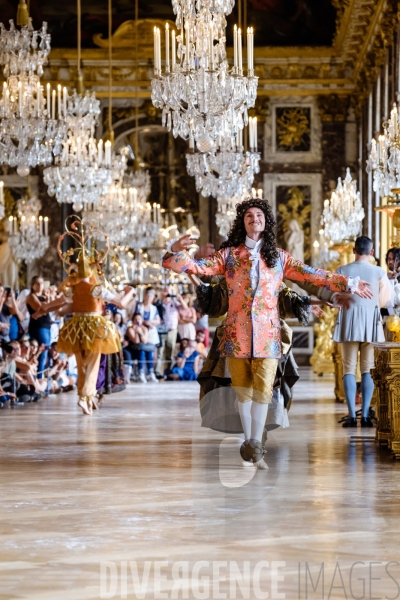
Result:
M134 316L132 324L128 327L126 337L129 342L126 350L130 355L130 360L138 361L139 381L147 383L153 381L158 383L154 374L154 351L155 345L148 343L149 329L143 323L141 314ZM147 379L144 368L147 366Z

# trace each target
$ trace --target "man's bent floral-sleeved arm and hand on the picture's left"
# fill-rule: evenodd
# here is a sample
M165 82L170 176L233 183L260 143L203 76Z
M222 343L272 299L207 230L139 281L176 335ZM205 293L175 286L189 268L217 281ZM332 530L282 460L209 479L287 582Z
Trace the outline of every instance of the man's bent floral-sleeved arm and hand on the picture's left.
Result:
M223 275L228 249L224 248L206 259L194 260L187 252L192 243L190 235L185 235L171 246L171 252L163 258L163 267L175 273L193 273L195 275Z

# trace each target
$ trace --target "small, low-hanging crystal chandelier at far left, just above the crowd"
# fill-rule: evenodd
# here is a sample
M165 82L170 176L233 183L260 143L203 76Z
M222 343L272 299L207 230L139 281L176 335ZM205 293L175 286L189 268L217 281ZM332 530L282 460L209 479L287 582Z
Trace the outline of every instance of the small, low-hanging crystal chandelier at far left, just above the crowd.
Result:
M29 264L49 247L49 219L39 216L41 207L37 198L21 198L17 201L18 217L9 217L8 243L18 262Z

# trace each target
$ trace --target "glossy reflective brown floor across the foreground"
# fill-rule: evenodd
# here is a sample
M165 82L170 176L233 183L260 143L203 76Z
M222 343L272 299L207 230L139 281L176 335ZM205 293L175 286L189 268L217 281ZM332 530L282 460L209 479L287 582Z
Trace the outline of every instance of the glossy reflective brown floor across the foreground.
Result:
M400 463L301 376L268 471L200 427L195 382L2 409L0 600L399 598Z

